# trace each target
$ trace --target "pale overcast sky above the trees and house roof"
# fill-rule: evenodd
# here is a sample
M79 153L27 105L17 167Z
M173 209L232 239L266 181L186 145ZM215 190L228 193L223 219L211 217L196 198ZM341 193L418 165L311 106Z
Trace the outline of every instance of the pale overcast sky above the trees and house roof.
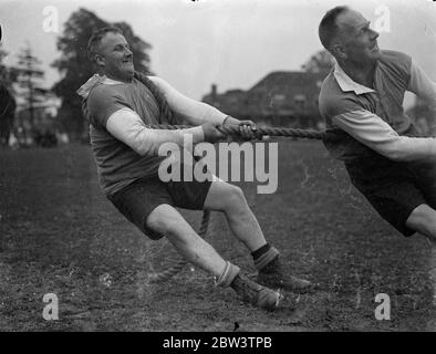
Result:
M125 21L152 44L153 72L199 100L212 83L219 93L248 90L270 72L301 70L322 49L322 15L339 4L361 11L381 30L381 49L412 55L436 81L432 0L0 0L0 24L6 63L15 63L29 43L50 87L61 77L50 64L60 58L56 39L72 12L84 8L110 22ZM46 7L58 14L58 33L43 29Z

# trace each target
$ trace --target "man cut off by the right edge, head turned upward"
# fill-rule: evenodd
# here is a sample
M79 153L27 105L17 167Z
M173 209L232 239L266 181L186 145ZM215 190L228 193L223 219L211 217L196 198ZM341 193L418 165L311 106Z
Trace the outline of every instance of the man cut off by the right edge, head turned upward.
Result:
M411 56L380 50L378 33L346 7L326 12L319 35L336 60L319 100L336 136L326 148L385 220L436 244L436 138L419 137L403 108L406 91L436 106L435 83Z

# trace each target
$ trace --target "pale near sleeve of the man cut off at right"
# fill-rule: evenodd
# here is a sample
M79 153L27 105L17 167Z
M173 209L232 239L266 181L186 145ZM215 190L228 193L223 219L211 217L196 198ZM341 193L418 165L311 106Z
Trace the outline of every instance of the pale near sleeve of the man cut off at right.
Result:
M368 111L342 113L332 121L356 140L392 160L436 160L436 138L401 136Z

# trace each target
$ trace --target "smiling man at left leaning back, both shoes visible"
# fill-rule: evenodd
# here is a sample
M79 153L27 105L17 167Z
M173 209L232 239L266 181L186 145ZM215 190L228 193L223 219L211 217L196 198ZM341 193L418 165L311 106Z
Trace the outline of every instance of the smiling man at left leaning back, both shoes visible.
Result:
M281 295L270 288L304 292L311 283L282 269L279 252L264 239L243 192L221 180L164 183L158 177L163 143L183 147L184 135L194 144L225 136L220 125L236 125L253 137L251 121L238 121L212 106L190 100L166 81L134 71L128 43L116 28L93 34L89 52L98 67L80 90L90 119L91 143L103 190L114 206L152 239L166 237L193 264L211 273L216 284L231 287L245 301L273 310ZM152 124L177 124L184 117L193 128L150 129ZM185 168L180 168L181 171ZM226 261L201 239L175 207L225 214L235 237L251 252L257 282ZM261 283L262 285L260 285Z

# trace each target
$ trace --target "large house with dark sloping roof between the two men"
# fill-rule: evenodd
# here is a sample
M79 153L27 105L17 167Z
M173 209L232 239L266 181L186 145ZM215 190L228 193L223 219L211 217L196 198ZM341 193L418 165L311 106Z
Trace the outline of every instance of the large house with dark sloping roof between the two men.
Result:
M258 124L322 128L318 96L324 75L308 72L273 72L248 91L218 94L217 86L203 97L218 110Z

